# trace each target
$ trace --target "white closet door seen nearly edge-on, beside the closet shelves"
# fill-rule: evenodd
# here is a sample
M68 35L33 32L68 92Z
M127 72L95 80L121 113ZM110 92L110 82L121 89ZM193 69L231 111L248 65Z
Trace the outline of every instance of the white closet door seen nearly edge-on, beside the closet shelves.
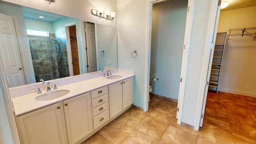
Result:
M210 54L208 73L207 73L207 79L206 79L208 83L209 83L209 80L210 80L210 74L211 74L211 69L212 69L212 59L213 59L214 46L215 46L215 41L216 41L219 18L220 18L220 5L218 6L218 10L217 10L215 28L214 28L214 35L213 35L213 39L212 39L212 50L211 50L211 54ZM206 84L205 92L204 92L204 102L203 102L203 107L202 107L202 115L201 115L201 120L200 120L200 127L203 126L204 111L205 111L206 99L207 99L207 94L208 94L208 87L209 87L209 84Z

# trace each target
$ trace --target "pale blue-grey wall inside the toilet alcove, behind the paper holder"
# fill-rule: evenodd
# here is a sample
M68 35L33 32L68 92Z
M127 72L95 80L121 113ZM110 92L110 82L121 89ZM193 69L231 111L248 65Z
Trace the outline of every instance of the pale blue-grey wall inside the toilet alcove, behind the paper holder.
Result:
M150 62L151 93L178 100L188 0L153 6ZM152 78L159 78L153 82Z

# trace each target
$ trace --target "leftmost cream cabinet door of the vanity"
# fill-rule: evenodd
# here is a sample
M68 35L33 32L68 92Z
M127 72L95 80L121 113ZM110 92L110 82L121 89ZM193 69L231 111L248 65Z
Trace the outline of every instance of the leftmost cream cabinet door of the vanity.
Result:
M60 104L18 117L23 144L65 144Z

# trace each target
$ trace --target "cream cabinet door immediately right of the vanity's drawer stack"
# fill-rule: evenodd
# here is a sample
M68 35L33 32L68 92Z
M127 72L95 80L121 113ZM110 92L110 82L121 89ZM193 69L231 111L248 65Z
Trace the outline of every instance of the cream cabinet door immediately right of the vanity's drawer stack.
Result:
M123 110L122 81L108 85L110 118Z

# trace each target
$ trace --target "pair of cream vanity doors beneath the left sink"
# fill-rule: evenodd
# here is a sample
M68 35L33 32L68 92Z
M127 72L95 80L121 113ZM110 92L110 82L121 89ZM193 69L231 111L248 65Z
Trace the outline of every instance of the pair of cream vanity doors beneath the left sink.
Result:
M92 132L89 93L17 117L23 144L76 144Z

